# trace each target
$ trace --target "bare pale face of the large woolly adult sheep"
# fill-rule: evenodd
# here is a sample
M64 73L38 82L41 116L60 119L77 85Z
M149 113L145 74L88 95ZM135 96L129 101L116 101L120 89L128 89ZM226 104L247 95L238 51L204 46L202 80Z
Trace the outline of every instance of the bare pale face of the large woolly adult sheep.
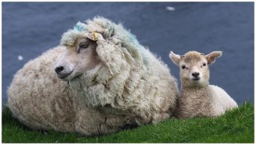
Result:
M66 51L55 65L57 77L69 81L92 70L100 63L96 53L97 43L87 37L77 38L73 46L66 46Z

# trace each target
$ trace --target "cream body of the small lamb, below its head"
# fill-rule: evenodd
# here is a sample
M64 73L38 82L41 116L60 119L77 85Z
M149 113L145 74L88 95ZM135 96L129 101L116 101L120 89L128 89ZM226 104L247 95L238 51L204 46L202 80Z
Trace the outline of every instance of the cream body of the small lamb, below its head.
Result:
M218 86L182 88L175 114L181 118L213 117L233 107L237 107L236 101Z

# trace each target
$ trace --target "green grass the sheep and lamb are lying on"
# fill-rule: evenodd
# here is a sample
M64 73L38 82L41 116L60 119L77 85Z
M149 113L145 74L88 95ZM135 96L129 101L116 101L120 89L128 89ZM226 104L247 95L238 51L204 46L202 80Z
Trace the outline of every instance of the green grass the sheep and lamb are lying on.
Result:
M105 136L81 136L31 130L2 112L3 143L254 143L254 106L245 103L216 118L169 119L157 125L122 130Z

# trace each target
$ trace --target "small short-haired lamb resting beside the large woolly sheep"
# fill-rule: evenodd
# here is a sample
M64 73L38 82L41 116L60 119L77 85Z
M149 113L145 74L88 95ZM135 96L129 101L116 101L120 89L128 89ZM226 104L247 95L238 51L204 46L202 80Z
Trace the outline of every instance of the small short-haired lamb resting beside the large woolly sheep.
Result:
M216 117L237 107L236 101L223 88L209 85L208 66L221 55L222 51L213 51L207 55L188 51L180 56L171 51L170 59L180 67L181 93L175 111L176 117Z

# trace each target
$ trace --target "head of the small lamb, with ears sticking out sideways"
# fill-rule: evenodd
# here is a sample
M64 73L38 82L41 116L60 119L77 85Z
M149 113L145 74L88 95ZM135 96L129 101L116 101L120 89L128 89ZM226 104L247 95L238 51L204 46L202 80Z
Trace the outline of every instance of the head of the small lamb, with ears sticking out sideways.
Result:
M215 62L215 58L220 57L221 51L213 51L204 55L197 51L188 51L183 56L169 54L175 65L180 67L180 80L182 86L201 87L209 84L209 65Z

